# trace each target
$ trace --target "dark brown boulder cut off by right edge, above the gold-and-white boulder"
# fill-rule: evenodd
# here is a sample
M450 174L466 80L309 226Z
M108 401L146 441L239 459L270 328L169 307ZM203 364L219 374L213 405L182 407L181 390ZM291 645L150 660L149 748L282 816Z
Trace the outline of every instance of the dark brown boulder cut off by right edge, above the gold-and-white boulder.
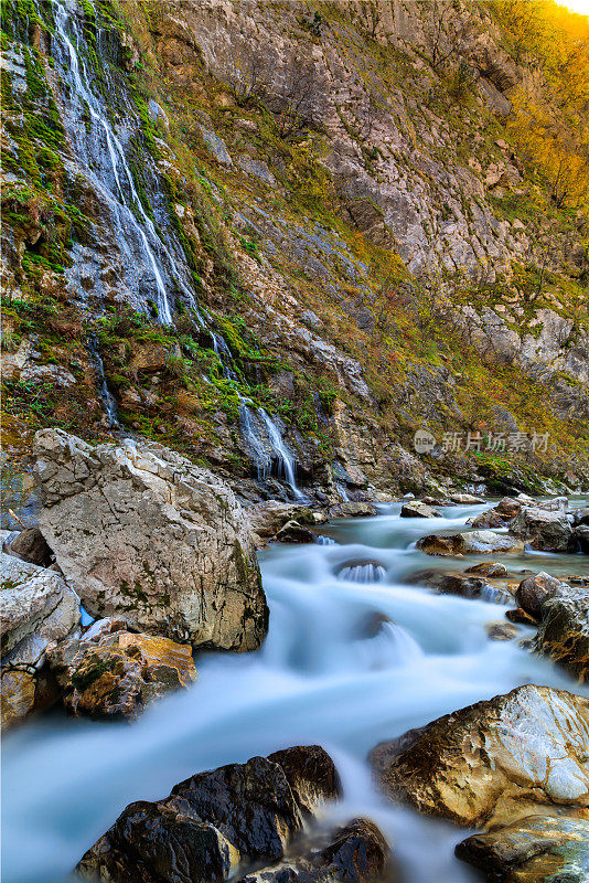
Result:
M589 589L561 583L540 606L536 649L579 681L589 679Z

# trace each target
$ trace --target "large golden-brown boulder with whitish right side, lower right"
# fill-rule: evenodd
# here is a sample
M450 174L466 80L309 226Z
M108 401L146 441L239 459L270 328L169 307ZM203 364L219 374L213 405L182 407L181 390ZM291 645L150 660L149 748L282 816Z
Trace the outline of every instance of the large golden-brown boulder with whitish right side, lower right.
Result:
M373 749L393 800L484 829L526 816L589 819L589 700L525 685Z

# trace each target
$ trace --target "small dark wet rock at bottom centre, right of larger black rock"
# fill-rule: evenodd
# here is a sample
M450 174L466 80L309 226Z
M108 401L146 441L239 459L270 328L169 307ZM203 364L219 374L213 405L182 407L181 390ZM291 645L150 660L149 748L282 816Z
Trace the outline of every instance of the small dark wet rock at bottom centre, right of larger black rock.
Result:
M373 821L353 819L333 838L320 850L247 874L239 883L378 883L385 879L390 852Z

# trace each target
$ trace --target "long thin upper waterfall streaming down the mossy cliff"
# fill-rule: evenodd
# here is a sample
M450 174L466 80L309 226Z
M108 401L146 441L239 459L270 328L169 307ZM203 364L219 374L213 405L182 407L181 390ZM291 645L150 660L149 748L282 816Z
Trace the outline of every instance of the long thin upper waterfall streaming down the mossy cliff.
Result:
M66 68L64 76L72 89L72 98L66 103L69 110L74 109L73 98L77 98L73 118L67 119L66 115L69 141L88 180L92 181L111 212L118 234L117 244L127 258L126 273L133 276L137 283L137 253L133 252L133 244L136 244L137 251L142 256L142 263L150 268L153 275L157 289L154 300L160 321L164 325L172 323L171 298L162 276L161 263L167 265L168 272L202 323L192 291L183 281L176 260L161 242L152 220L143 208L122 143L109 123L108 113L103 108L100 99L90 86L92 77L82 52L84 34L77 15L68 12L64 0L53 0L53 9L55 33L60 38L58 41L54 40L54 49L58 50L54 52L54 55L62 61ZM71 29L75 46L68 36L67 28ZM62 55L60 42L65 47L65 54ZM106 74L106 64L104 70ZM113 92L115 94L115 91ZM84 115L88 120L87 126ZM160 258L159 263L157 254L163 256L164 260Z

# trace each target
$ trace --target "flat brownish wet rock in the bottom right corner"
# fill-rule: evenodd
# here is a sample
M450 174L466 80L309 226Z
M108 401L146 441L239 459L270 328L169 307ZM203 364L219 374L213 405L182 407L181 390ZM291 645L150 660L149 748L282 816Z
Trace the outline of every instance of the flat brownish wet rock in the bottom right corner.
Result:
M586 883L589 879L589 822L528 816L459 843L456 854L503 883Z

